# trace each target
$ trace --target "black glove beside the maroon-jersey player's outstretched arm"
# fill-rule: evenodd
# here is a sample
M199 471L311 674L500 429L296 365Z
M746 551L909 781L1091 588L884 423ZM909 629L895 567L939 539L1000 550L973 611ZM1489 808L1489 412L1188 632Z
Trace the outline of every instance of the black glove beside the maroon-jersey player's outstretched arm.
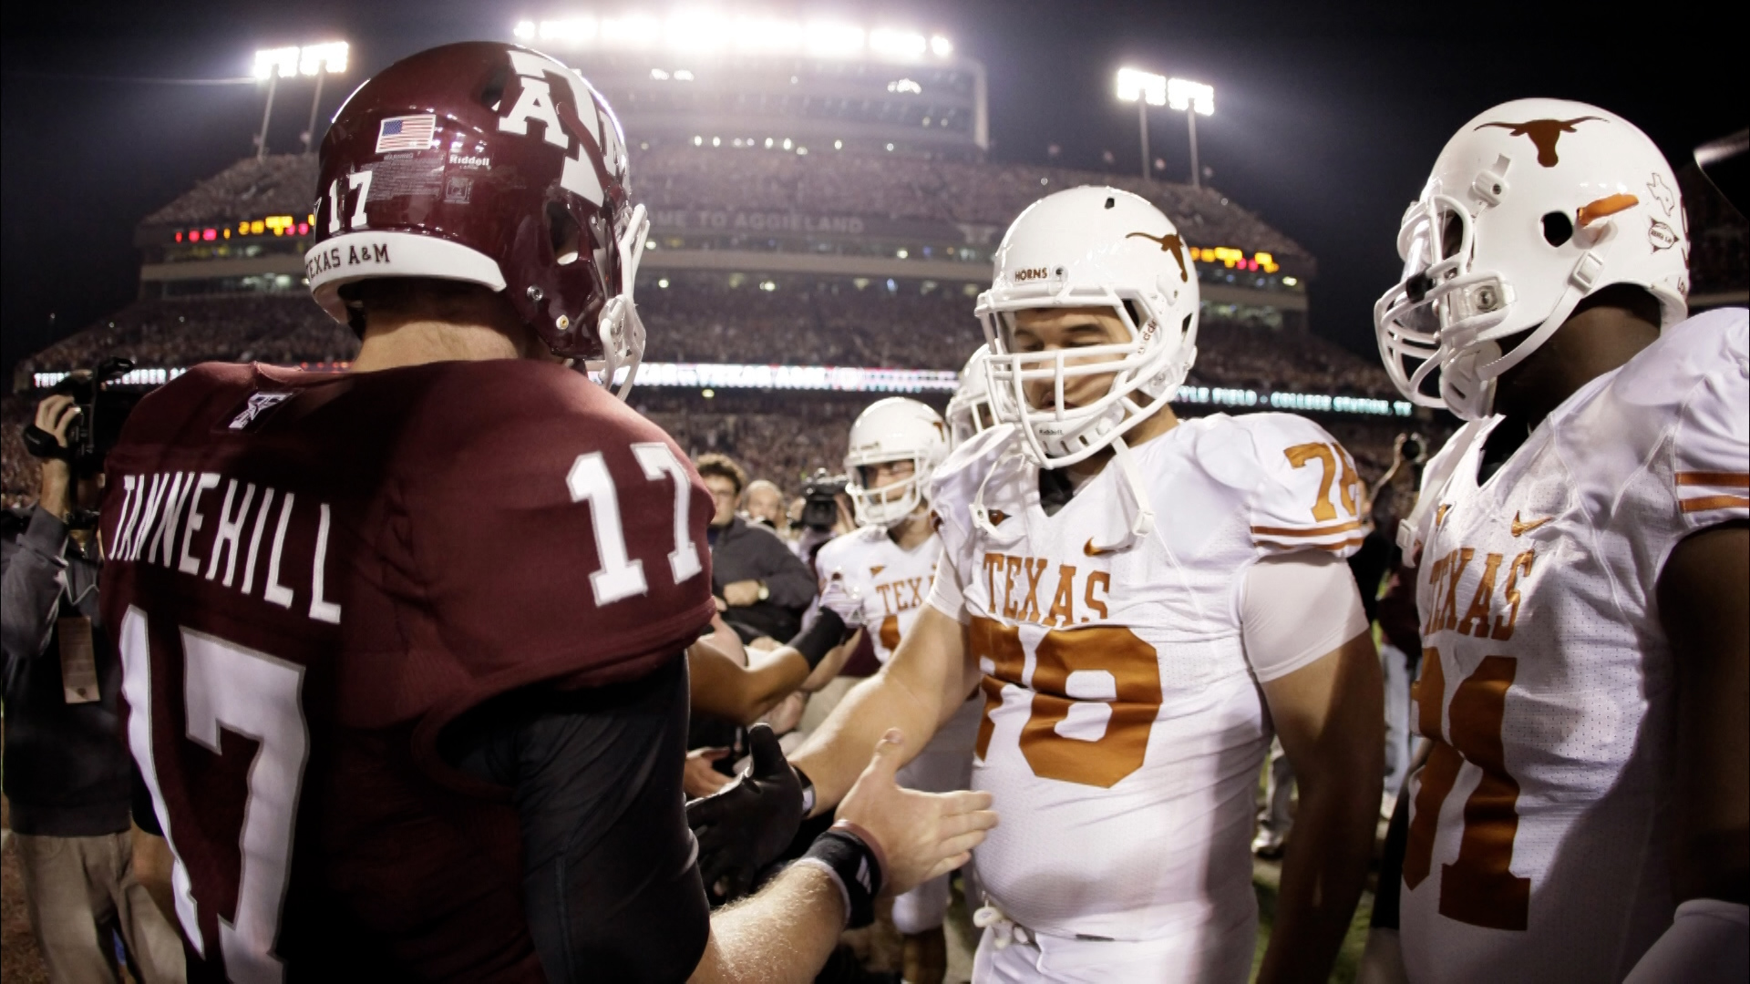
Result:
M770 725L747 728L752 767L721 791L686 804L698 839L698 872L719 902L747 895L761 868L775 861L802 823L802 779L784 758ZM719 886L723 891L719 893Z

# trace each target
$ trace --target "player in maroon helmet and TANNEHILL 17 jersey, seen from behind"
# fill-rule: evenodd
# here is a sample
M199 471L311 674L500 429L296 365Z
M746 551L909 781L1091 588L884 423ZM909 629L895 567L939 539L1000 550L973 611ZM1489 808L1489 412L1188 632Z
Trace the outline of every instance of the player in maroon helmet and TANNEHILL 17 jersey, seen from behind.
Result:
M595 89L425 51L346 100L320 175L306 270L354 371L200 366L108 459L103 611L189 977L807 977L884 884L964 858L994 818L892 786L887 741L802 865L707 912L681 763L710 501L560 364L611 383L644 345ZM793 786L752 744L738 784Z

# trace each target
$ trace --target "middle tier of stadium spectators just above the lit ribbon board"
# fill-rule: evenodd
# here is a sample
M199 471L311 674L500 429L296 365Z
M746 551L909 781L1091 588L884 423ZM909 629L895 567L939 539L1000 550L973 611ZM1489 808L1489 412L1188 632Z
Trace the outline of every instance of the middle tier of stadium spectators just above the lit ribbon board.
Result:
M957 287L707 273L662 278L667 287L651 280L639 289L651 361L959 369L984 341L973 299ZM93 366L105 355L184 368L215 359L343 362L357 348L352 331L303 292L147 299L21 361L18 389L35 371ZM1192 382L1393 396L1372 359L1222 305L1204 310Z

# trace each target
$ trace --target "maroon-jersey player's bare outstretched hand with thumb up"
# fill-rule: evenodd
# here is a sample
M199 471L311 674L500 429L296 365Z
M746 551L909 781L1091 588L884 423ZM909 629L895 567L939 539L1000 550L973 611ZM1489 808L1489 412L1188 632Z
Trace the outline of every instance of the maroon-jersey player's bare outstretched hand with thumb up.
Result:
M875 758L838 804L838 819L866 830L887 858L882 895L900 895L971 860L971 851L996 826L990 793L919 793L901 790L905 735L889 728L875 744Z

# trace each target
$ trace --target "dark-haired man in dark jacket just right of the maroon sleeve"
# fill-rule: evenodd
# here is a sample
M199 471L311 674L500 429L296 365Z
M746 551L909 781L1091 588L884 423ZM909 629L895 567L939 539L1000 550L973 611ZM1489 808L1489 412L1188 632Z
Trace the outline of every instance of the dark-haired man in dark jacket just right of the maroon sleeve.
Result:
M814 574L775 532L735 515L747 473L728 455L700 455L698 474L710 488L710 590L723 620L742 643L784 643L802 629L814 604Z

